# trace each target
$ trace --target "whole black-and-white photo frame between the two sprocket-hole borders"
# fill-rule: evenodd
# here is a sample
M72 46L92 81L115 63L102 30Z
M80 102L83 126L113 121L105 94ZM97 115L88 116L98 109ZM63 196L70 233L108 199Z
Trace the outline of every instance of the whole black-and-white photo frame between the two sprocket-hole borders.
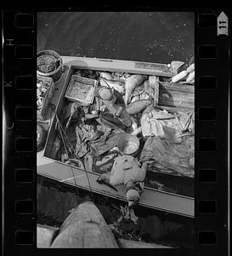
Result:
M37 248L195 247L194 12L37 12Z

